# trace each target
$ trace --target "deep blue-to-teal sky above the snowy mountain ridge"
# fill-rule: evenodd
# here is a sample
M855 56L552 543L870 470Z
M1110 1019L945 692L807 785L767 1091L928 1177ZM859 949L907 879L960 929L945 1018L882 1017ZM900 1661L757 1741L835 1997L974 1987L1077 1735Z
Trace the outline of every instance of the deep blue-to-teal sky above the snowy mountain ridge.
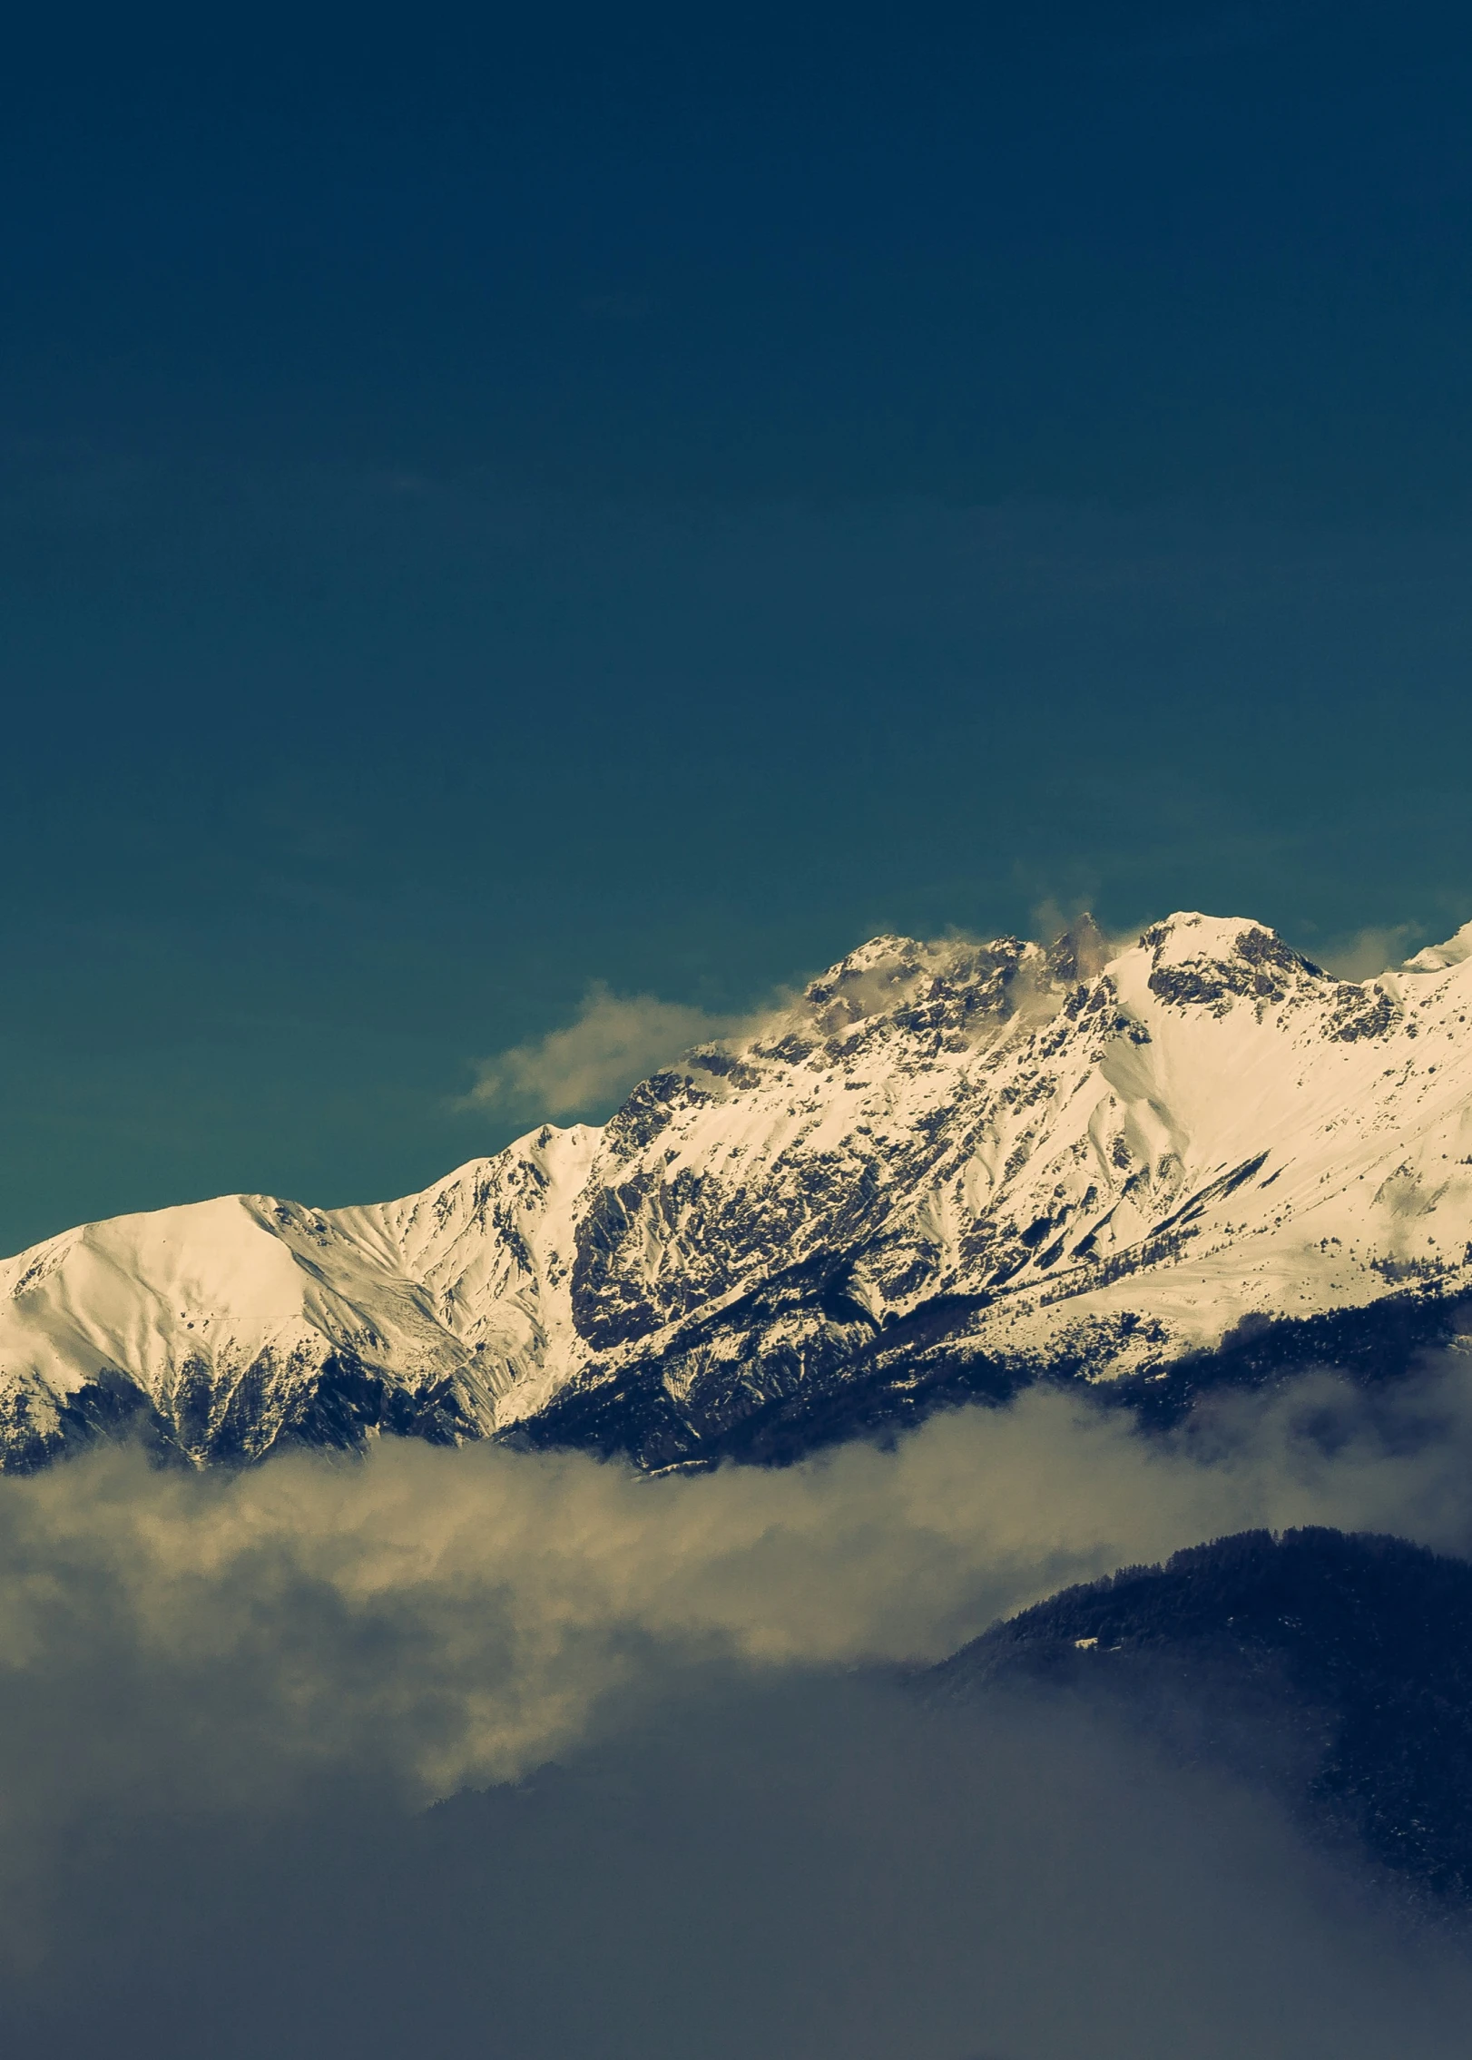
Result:
M1466 921L1470 89L1418 0L21 23L0 1244L418 1187L591 983Z

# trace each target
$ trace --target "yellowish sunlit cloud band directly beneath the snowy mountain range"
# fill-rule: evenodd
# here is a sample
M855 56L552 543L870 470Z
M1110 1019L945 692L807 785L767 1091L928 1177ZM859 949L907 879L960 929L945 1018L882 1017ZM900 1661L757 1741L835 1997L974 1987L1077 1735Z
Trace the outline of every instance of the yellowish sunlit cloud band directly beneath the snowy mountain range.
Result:
M933 1660L1066 1582L1295 1522L1464 1549L1472 1360L1229 1397L1171 1440L1033 1390L780 1473L385 1440L194 1477L99 1452L0 1483L0 1805L245 1798L327 1765L430 1800L688 1667Z

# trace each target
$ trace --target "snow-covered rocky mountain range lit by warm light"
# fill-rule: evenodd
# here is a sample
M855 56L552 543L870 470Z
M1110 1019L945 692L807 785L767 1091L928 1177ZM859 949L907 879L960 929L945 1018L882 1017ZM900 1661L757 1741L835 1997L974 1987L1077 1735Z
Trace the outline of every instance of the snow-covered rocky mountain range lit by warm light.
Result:
M2 1263L0 1458L124 1426L194 1463L375 1430L772 1456L762 1426L861 1393L1138 1380L1383 1298L1456 1323L1470 1014L1472 925L1365 983L1202 915L1114 954L1087 919L875 937L601 1129Z

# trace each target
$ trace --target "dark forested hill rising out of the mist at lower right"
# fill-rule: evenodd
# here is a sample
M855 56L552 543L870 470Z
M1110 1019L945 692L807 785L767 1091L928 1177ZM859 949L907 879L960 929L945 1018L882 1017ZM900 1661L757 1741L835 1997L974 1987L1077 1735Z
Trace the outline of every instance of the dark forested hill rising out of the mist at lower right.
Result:
M1320 1831L1472 1897L1472 1566L1404 1539L1248 1531L1068 1588L924 1691L1011 1683L1130 1710L1178 1755L1266 1780Z

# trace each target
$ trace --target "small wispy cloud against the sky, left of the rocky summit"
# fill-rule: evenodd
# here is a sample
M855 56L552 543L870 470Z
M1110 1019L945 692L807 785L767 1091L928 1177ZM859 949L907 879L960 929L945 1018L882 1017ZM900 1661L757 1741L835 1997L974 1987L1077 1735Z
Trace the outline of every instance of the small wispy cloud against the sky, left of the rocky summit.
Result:
M548 1117L587 1114L622 1100L692 1044L729 1036L737 1022L655 995L616 995L597 983L576 1022L486 1059L465 1100L482 1108L535 1102Z

